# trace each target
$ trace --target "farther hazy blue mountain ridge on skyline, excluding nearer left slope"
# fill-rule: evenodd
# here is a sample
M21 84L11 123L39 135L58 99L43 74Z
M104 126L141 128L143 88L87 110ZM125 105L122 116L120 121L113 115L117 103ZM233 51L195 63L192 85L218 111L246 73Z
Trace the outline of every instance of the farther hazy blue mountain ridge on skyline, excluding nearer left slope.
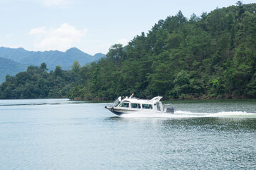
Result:
M60 51L45 51L45 52L33 52L27 51L23 48L9 48L0 47L0 56L14 62L28 65L40 65L45 62L48 69L55 69L56 65L60 65L62 69L70 69L70 65L74 61L78 61L81 65L99 60L101 57L105 57L102 53L96 55L88 55L82 52L78 48L70 48L65 52Z

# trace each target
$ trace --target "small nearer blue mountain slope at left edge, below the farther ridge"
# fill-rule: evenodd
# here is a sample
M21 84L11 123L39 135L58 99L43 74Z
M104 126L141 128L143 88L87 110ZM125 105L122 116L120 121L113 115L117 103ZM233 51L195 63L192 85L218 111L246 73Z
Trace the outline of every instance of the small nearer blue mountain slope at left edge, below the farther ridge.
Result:
M28 66L25 64L19 64L9 59L0 57L0 84L5 81L6 75L14 76L18 72L23 72Z

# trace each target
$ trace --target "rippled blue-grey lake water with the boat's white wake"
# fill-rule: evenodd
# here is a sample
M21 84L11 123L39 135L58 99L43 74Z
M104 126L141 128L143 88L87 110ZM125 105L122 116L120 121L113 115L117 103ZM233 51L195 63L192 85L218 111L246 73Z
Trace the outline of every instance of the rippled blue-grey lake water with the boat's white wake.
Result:
M122 117L105 105L0 100L0 169L256 169L256 101Z

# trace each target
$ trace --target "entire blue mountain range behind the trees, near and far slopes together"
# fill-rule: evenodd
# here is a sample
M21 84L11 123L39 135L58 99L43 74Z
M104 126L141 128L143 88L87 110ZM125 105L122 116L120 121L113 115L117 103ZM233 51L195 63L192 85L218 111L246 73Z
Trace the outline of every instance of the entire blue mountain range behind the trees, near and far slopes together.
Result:
M99 60L101 57L106 57L102 53L88 55L78 48L70 48L65 52L60 51L45 51L33 52L23 48L0 47L0 84L5 80L7 74L15 75L18 72L26 70L29 65L40 66L45 62L47 68L55 69L60 65L62 69L70 69L73 62L78 61L81 66Z

